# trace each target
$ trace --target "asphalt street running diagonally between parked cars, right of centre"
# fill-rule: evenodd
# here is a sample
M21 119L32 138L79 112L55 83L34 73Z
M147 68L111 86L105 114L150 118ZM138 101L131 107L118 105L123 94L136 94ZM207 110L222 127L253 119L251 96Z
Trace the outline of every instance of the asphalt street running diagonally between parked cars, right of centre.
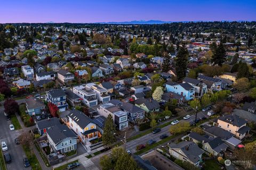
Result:
M203 116L208 117L207 112L198 112L197 113L197 118L203 117ZM191 115L191 117L188 120L181 120L180 122L182 122L182 121L195 122L195 117L196 117L195 115ZM172 125L165 126L164 128L161 129L160 132L158 132L156 134L149 133L147 135L144 135L143 137L140 137L138 139L127 142L126 150L130 150L132 152L132 154L134 154L137 151L136 148L138 145L140 145L140 144L146 145L147 141L150 139L153 139L156 142L158 142L161 140L160 136L162 134L167 134L168 136L171 136L172 134L169 132L169 129L171 126Z

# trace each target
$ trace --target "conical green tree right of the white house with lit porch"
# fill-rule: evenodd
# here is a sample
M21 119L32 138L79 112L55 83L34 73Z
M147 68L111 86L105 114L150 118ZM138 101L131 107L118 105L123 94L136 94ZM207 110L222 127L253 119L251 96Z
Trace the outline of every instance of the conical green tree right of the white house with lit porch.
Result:
M116 129L111 114L109 114L107 117L103 132L104 133L102 134L102 142L109 148L109 146L116 141Z

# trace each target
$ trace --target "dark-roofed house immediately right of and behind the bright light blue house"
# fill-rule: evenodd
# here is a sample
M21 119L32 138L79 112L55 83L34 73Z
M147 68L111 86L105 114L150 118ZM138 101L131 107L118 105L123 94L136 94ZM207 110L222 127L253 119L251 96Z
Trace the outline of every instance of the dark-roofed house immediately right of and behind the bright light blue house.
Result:
M207 85L200 80L186 77L182 80L183 83L189 83L195 89L195 96L202 97L207 92Z

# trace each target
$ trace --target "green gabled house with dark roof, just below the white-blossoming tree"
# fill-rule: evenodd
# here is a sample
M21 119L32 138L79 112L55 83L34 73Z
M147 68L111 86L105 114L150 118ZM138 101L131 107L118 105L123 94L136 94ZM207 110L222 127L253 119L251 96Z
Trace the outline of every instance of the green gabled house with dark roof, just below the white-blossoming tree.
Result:
M146 113L159 112L160 105L156 100L139 98L135 101L135 106L142 108Z

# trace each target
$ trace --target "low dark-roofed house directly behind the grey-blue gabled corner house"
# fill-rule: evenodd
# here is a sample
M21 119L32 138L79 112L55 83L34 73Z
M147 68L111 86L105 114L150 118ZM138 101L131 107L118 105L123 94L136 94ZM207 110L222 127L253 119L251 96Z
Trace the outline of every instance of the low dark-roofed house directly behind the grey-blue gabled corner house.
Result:
M52 117L52 118L47 118L42 121L37 121L36 122L36 128L38 130L38 133L40 135L46 134L46 131L52 128L55 125L60 124L60 119L58 117Z

